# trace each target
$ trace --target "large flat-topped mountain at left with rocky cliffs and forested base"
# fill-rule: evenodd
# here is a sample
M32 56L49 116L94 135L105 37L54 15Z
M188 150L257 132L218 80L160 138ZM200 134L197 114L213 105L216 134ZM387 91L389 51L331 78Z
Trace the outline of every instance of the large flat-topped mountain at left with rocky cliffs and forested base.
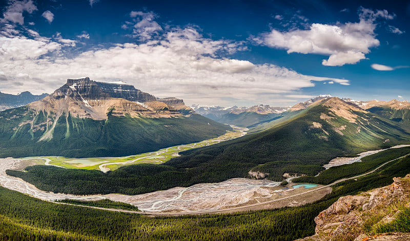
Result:
M159 99L122 82L68 79L42 100L0 113L0 157L127 156L228 129L180 99Z

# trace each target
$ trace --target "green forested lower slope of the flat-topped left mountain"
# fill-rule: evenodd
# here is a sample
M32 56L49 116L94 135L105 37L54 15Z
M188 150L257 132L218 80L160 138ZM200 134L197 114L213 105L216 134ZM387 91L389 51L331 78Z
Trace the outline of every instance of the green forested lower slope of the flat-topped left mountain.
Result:
M56 115L53 115L56 116ZM0 113L0 157L128 156L198 142L231 129L200 115L107 120L61 115L57 120L24 106Z

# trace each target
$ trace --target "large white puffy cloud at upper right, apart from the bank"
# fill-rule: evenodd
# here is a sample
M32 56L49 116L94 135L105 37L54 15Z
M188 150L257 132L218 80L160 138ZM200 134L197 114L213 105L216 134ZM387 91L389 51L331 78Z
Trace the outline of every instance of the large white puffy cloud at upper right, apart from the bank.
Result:
M259 45L285 49L288 53L323 54L323 65L354 64L365 59L370 49L380 45L374 30L377 18L393 19L387 10L361 8L358 23L338 25L312 24L308 30L281 32L273 29L254 38Z

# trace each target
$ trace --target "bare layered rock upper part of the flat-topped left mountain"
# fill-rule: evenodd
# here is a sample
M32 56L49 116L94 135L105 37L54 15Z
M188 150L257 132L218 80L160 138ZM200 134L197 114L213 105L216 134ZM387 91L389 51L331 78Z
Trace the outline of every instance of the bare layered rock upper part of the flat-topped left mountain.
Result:
M192 110L176 98L158 99L124 83L68 79L67 83L42 100L29 104L36 111L79 118L105 120L108 114L132 117L173 117L189 115Z

